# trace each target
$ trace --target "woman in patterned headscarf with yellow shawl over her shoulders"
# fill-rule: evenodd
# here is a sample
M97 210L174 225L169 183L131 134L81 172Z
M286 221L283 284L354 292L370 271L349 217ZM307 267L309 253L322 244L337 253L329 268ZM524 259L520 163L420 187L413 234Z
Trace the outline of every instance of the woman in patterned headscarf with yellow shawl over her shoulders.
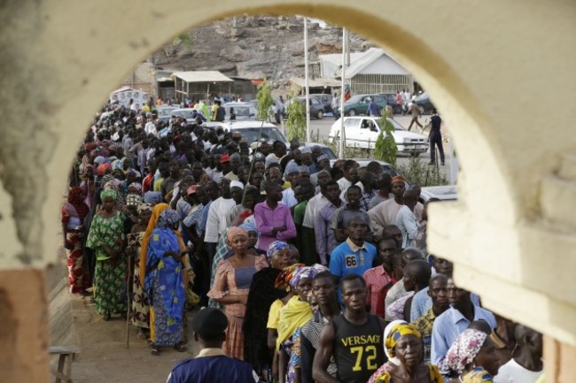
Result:
M278 338L276 339L276 349L280 350L282 348L278 363L278 374L283 376L285 371L288 383L294 382L297 379L296 377L300 376L300 329L313 315L308 301L308 295L312 291L312 280L319 273L328 271L328 268L322 264L313 264L299 267L292 273L290 287L295 295L280 310ZM284 355L289 356L289 358L284 358ZM300 381L300 379L297 381Z

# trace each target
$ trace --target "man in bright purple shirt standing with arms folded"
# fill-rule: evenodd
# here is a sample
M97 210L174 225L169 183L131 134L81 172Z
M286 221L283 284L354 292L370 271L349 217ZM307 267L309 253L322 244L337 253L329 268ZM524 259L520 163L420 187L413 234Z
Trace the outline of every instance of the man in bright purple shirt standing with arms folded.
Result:
M254 207L256 227L260 232L258 249L268 251L273 241L288 241L296 238L296 226L290 208L282 201L282 186L273 181L266 181L266 201Z

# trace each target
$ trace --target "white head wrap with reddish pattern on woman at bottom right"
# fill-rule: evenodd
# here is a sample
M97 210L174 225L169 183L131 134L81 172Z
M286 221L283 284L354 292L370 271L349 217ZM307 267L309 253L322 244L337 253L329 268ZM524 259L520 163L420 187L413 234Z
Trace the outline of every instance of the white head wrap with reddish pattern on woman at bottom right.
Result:
M483 331L466 329L458 335L442 362L442 370L449 369L462 374L468 364L478 355L487 334Z

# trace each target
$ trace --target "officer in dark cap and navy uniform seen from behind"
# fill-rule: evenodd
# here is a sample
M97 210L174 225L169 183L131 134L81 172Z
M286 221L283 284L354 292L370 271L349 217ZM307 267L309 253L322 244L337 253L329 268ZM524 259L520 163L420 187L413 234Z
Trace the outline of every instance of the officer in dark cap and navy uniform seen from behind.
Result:
M167 383L249 383L261 382L250 364L226 356L222 343L226 340L228 318L221 310L199 310L192 319L194 340L202 348L198 356L176 364Z

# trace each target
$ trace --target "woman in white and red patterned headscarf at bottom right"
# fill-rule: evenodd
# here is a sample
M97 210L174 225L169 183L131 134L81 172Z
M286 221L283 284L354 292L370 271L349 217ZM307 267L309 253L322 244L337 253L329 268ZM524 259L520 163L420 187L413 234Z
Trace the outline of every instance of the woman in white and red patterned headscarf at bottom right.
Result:
M458 335L441 363L443 372L448 371L462 383L492 382L499 367L488 335L471 328Z

